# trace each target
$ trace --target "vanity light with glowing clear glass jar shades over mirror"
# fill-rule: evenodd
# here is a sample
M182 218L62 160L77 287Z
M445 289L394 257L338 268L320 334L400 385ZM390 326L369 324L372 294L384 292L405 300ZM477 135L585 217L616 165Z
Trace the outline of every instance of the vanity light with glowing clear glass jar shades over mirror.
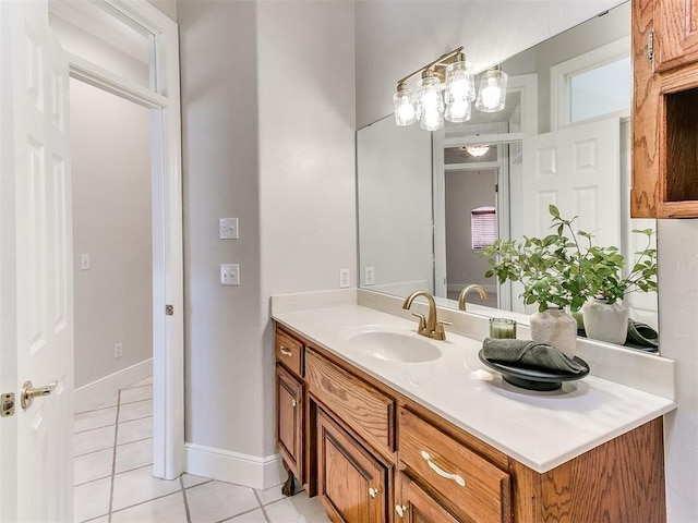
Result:
M472 102L476 100L478 100L477 104L488 108L480 109L476 105L479 110L484 110L485 112L501 111L504 109L506 96L506 74L498 69L496 71L504 75L504 84L501 81L496 81L498 82L496 85L481 83L481 85L489 87L490 90L485 92L484 102L480 104L481 94L476 97L473 69L470 62L466 61L462 47L438 57L433 62L398 81L397 92L393 96L395 123L397 125L411 125L419 121L422 129L437 131L444 126L444 120L455 123L470 120ZM407 81L420 73L421 80L417 84L416 93L412 93L407 85ZM502 85L504 85L504 95L498 96L492 88ZM490 107L498 108L490 109Z

